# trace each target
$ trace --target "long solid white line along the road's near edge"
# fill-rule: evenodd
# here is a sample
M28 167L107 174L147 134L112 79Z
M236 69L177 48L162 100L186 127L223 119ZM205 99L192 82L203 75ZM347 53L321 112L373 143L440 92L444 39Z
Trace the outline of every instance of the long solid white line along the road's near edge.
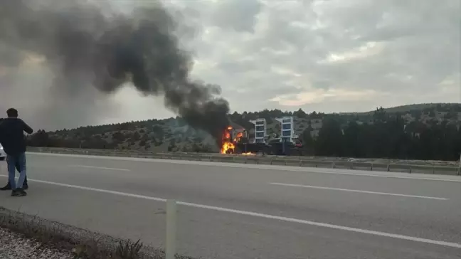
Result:
M6 175L1 175L4 177L8 177ZM120 195L120 196L127 196L127 197L133 197L133 198L138 198L138 199L147 199L150 201L162 201L165 202L166 199L162 198L156 198L152 196L144 196L144 195L139 195L139 194L128 194L120 191L110 191L110 190L104 190L104 189L95 189L91 187L85 187L85 186L78 186L78 185L71 185L71 184L61 184L61 183L56 183L53 181L41 181L41 180L33 180L33 179L28 179L28 181L33 181L41 184L51 184L55 186L63 186L63 187L68 187L68 188L74 188L74 189L80 189L80 190L86 190L86 191L97 191L100 193L105 193L105 194L115 194L115 195ZM374 235L374 236L384 236L388 238L398 238L398 239L403 239L403 240L410 240L414 242L420 242L420 243L429 243L433 245L443 245L443 246L448 246L452 248L461 248L461 243L451 243L451 242L445 242L445 241L440 241L440 240L432 240L432 239L427 239L427 238L416 238L413 236L403 236L403 235L398 235L398 234L392 234L392 233L385 233L385 232L379 232L379 231L370 231L366 229L361 229L361 228L350 228L346 226L339 226L339 225L333 225L329 223L320 223L320 222L315 222L315 221L305 221L303 219L297 219L297 218L287 218L287 217L282 217L282 216L273 216L269 214L263 214L263 213L257 213L257 212L252 212L252 211L240 211L236 210L233 208L223 208L223 207L217 207L217 206L208 206L208 205L203 205L203 204L198 204L198 203L190 203L190 202L184 202L184 201L178 201L177 202L180 205L184 206L190 206L194 208L206 208L209 210L213 211L222 211L222 212L228 212L228 213L235 213L235 214L240 214L240 215L245 215L245 216L253 216L253 217L259 217L259 218L268 218L268 219L274 219L277 221L286 221L286 222L291 222L291 223L300 223L304 225L310 225L310 226L319 226L319 227L324 227L324 228L334 228L338 229L341 231L351 231L351 232L356 232L356 233L364 233L364 234L369 234L369 235Z

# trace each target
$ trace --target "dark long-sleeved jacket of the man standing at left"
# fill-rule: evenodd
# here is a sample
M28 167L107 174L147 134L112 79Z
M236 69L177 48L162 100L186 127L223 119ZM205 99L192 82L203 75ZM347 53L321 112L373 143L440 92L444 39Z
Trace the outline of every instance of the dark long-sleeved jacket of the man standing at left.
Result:
M17 156L26 152L24 132L32 134L33 129L19 118L9 117L0 122L0 143L6 154Z

